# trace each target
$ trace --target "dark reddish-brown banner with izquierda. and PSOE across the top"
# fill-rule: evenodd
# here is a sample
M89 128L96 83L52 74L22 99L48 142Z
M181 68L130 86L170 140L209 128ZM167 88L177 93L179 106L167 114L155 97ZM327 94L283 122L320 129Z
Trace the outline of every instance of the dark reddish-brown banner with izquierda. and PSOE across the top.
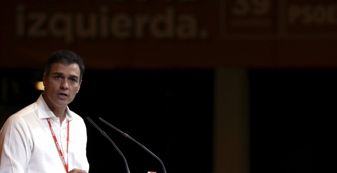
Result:
M53 51L87 68L336 66L337 3L272 0L5 1L0 67Z

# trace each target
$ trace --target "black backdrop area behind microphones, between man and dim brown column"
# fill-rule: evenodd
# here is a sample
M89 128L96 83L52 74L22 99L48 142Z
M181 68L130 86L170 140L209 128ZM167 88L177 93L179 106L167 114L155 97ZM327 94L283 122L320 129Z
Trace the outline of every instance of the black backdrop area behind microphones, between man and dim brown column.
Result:
M211 172L212 75L212 70L89 71L71 107L110 136L131 172L163 170L158 160L99 117L148 148L167 172ZM125 171L112 143L86 122L91 170Z

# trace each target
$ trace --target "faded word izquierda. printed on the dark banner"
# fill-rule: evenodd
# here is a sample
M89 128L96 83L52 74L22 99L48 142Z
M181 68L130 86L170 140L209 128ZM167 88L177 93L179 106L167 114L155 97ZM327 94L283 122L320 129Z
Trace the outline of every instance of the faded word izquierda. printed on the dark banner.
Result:
M16 7L16 36L19 38L59 38L65 43L76 39L207 39L208 32L198 26L191 14L176 14L166 7L162 14L110 14L106 6L98 12L27 12Z

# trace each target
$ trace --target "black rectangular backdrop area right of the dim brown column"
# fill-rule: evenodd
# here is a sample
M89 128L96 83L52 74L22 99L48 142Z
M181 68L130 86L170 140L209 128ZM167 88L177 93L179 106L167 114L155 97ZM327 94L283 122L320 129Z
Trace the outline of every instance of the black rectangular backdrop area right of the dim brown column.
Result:
M251 70L251 172L335 172L336 69Z

